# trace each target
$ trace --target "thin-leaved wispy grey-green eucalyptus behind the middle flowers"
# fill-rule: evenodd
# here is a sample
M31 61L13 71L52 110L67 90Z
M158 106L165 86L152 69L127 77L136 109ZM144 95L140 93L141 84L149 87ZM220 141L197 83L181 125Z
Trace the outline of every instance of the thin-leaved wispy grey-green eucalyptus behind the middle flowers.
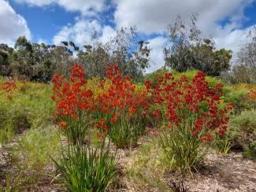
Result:
M106 66L115 63L123 75L139 80L149 66L148 42L139 41L136 28L121 28L107 42L102 42L95 32L91 43L76 54L77 62L85 65L87 76L106 76Z

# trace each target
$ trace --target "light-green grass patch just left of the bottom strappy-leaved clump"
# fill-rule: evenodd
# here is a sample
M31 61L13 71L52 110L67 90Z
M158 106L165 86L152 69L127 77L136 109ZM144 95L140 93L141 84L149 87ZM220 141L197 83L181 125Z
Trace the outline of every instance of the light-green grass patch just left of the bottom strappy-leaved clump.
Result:
M30 129L13 146L13 160L19 164L22 157L21 163L27 171L40 172L51 162L49 155L54 157L60 149L60 135L54 127Z

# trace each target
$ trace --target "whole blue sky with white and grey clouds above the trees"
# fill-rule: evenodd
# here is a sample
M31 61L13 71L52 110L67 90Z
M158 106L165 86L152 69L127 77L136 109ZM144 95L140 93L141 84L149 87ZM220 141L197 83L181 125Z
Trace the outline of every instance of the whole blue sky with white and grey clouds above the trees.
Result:
M236 54L256 24L254 0L0 0L0 42L13 45L19 35L33 42L90 42L98 31L106 42L122 26L136 25L150 42L151 69L163 64L166 26L176 14L198 13L198 27L217 48Z

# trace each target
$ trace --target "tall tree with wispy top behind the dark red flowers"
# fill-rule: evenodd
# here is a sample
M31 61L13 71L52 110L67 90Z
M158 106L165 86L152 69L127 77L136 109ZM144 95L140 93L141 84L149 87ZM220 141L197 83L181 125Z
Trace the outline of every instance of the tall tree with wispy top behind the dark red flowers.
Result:
M164 49L165 66L178 72L198 69L210 76L220 76L230 68L232 51L216 50L213 39L202 37L196 21L194 14L188 20L178 15L175 23L169 24L169 46Z

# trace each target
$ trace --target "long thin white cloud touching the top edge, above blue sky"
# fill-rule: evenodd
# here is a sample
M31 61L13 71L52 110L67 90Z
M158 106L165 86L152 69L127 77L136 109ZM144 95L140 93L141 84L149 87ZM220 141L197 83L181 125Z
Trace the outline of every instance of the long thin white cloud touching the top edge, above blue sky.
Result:
M67 11L79 11L82 15L91 15L104 8L104 0L15 0L28 6L51 6L57 4Z

